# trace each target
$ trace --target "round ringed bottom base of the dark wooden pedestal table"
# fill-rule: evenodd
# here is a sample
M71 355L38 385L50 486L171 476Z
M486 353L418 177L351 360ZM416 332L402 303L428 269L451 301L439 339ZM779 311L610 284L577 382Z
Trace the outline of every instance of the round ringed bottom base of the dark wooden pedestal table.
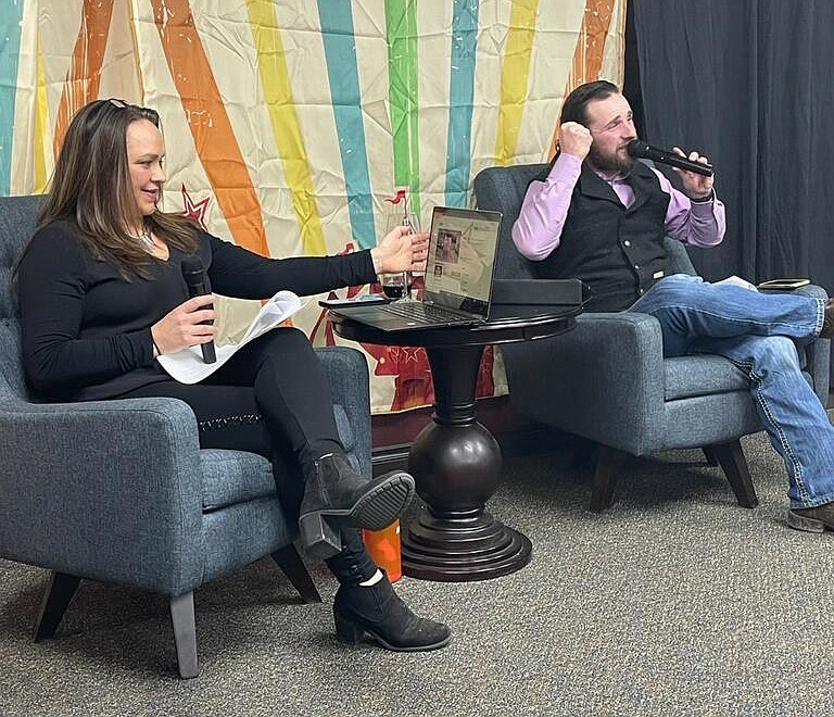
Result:
M515 573L530 562L532 545L488 511L438 518L426 510L403 537L402 551L405 575L464 582Z

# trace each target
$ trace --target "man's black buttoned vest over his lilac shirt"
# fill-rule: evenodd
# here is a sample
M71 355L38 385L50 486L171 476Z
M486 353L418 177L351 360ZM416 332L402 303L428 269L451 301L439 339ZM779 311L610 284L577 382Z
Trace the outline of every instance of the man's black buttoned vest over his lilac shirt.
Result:
M533 262L541 278L578 277L587 286L585 311L621 311L666 275L664 248L669 194L637 162L628 179L634 202L626 209L587 163L573 188L559 246Z

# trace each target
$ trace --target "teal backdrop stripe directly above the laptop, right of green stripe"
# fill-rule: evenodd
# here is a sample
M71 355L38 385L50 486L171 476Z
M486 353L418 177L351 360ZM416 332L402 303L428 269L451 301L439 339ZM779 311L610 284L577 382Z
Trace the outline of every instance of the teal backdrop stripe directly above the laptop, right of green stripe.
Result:
M454 0L454 3L446 137L446 205L466 206L472 162L472 104L479 0Z

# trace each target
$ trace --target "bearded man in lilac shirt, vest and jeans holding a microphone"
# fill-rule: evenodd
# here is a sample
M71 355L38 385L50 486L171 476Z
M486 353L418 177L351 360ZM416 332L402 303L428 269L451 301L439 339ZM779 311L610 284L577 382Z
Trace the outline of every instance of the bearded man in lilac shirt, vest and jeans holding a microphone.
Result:
M516 247L542 277L581 278L587 310L655 316L664 355L715 353L744 370L787 467L788 525L834 530L834 428L803 378L794 344L834 336L834 302L668 276L664 236L718 244L724 206L712 177L677 171L681 192L635 162L627 151L633 139L631 108L616 85L573 90L563 105L559 153L547 176L530 184L513 227ZM707 161L697 152L688 159Z

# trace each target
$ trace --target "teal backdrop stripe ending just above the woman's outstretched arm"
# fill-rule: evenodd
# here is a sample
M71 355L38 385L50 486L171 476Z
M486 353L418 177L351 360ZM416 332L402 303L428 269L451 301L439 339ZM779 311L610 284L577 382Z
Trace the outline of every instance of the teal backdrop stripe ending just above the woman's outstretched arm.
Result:
M362 122L359 68L356 63L351 0L318 0L318 16L348 192L351 230L362 249L370 249L376 246L377 236L374 230L374 198L370 193L365 125Z

